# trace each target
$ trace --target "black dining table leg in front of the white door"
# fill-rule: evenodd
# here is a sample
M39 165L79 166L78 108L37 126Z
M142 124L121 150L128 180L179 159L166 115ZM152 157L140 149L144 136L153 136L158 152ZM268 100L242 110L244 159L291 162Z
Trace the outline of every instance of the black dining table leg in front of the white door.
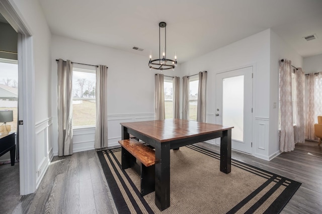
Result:
M220 171L226 174L231 171L231 129L223 131L220 138Z

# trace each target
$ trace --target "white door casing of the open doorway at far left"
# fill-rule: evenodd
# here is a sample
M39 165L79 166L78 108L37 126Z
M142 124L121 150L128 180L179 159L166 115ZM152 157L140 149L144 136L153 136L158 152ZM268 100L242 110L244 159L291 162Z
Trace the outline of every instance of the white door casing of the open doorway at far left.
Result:
M22 106L18 120L23 121L19 126L20 194L26 195L36 190L33 38L12 0L2 0L0 6L0 13L18 32L18 94Z

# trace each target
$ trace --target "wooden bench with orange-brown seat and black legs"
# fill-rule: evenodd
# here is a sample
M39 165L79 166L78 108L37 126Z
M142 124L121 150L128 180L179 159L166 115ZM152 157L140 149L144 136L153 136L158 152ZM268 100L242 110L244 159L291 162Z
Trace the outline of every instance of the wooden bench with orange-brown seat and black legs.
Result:
M119 144L122 146L122 169L133 168L141 177L141 196L153 192L155 189L154 150L133 138L121 140Z

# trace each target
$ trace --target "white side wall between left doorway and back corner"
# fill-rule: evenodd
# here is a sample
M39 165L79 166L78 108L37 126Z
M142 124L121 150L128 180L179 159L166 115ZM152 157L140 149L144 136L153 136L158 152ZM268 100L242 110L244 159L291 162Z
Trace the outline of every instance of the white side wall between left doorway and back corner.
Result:
M35 151L25 154L35 163L35 184L39 185L52 157L51 150L51 32L37 0L13 0L13 7L32 36L34 90L24 99L34 100ZM24 65L25 66L25 65ZM30 143L30 142L29 142ZM31 148L27 148L30 150ZM24 152L24 151L21 151ZM31 155L35 154L35 155ZM34 161L33 161L34 160Z

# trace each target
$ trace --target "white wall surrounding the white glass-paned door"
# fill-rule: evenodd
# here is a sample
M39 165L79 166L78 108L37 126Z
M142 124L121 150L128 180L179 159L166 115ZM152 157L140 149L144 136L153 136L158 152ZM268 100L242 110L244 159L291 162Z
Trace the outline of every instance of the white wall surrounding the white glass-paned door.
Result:
M256 118L264 118L265 120L269 120L269 59L270 29L219 48L192 61L183 63L181 65L181 74L183 76L196 74L203 70L208 71L206 106L207 122L215 123L216 74L248 65L253 65L253 125L255 125ZM253 148L259 143L254 137L254 130L255 129L253 128ZM268 142L268 134L264 137L264 140ZM268 159L268 148L259 154L253 150L253 155Z

